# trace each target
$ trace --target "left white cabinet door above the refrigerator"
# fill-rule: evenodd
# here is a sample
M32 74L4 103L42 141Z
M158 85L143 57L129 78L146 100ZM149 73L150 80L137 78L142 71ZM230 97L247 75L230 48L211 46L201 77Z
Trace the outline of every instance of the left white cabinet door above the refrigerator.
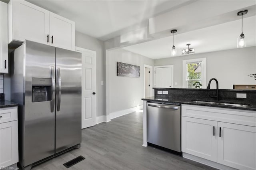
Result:
M9 43L30 40L47 44L49 11L24 0L11 0L9 10Z

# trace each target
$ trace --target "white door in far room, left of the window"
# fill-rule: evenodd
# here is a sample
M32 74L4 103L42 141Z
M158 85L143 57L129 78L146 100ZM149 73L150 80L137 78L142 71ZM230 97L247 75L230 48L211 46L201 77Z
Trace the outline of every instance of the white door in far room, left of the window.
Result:
M173 67L155 67L155 87L170 88L172 84Z

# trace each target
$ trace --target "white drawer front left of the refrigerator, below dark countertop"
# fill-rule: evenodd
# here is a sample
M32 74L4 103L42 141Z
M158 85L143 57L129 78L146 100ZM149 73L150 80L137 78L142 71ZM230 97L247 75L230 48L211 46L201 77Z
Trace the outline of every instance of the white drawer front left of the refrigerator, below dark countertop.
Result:
M16 121L17 119L17 107L8 107L0 109L0 123Z

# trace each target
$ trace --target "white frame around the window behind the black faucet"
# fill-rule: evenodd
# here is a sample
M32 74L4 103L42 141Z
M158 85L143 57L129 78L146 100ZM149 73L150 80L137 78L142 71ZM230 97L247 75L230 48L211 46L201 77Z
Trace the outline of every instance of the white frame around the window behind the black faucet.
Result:
M206 88L206 58L197 58L197 59L187 59L183 60L183 67L182 67L182 87L187 88L186 82L186 64L188 63L196 63L202 62L202 89Z

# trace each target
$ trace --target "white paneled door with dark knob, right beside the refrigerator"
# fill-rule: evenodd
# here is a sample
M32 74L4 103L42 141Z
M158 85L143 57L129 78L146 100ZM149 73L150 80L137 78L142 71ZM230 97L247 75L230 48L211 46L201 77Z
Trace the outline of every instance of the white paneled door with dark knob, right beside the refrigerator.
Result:
M82 52L82 128L96 125L96 51Z

